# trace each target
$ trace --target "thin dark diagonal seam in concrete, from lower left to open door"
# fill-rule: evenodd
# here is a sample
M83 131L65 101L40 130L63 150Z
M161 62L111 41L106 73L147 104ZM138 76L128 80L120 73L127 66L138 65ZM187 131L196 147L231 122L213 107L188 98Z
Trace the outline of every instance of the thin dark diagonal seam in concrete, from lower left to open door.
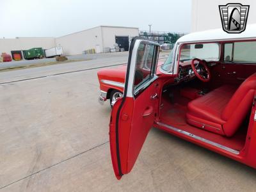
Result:
M10 184L6 184L5 186L0 187L0 189L3 189L3 188L6 188L6 187L8 187L8 186L10 186L10 185L12 185L12 184L15 184L16 182L19 182L20 180L27 179L28 177L31 177L31 176L33 176L33 175L36 175L37 173L44 172L45 170L48 170L49 168L52 168L52 167L54 167L54 166L57 166L58 164L64 163L64 162L66 162L66 161L68 161L68 160L70 160L70 159L73 159L74 157L81 156L82 154L85 154L86 152L89 152L89 151L91 151L91 150L93 150L93 149L95 149L95 148L101 147L102 145L105 145L105 144L107 144L107 143L109 143L109 141L106 141L106 142L104 142L104 143L101 143L100 145L96 145L95 147L89 148L88 150L84 150L83 152L80 152L79 154L76 154L76 155L74 155L74 156L68 157L67 159L64 159L64 160L62 160L62 161L60 161L60 162L58 162L58 163L52 164L51 166L48 166L47 168L44 168L44 169L42 169L42 170L39 170L39 171L37 171L37 172L35 172L35 173L31 173L30 175L27 175L27 176L25 176L25 177L22 177L21 179L15 180L15 181L11 182Z

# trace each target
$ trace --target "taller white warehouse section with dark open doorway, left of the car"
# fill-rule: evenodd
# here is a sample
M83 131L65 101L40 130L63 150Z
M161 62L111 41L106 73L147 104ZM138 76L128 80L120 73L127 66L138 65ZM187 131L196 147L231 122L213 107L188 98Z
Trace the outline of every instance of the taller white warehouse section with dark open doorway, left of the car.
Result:
M105 47L113 47L115 43L128 51L131 38L138 35L138 28L98 26L58 37L55 41L56 46L62 46L64 54L68 55L82 54L88 49L104 52Z

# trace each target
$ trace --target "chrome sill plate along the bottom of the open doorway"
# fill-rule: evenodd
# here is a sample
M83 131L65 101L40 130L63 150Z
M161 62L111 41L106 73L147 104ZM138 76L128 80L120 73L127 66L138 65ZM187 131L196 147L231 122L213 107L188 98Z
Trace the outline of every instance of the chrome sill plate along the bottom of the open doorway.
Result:
M168 128L168 129L171 129L172 131L180 132L180 133L182 133L182 134L184 134L184 135L186 135L186 136L189 136L189 137L191 137L191 138L194 138L195 140L200 140L200 141L203 141L204 143L207 143L207 144L212 145L212 146L214 146L214 147L221 148L221 149L223 149L223 150L226 150L227 152L231 152L232 154L239 155L239 153L240 153L238 150L234 150L234 149L229 148L229 147L226 147L226 146L224 146L224 145L220 145L219 143L215 143L215 142L213 142L213 141L206 140L206 139L204 139L204 138L201 138L200 136L196 136L195 134L192 134L192 133L187 132L187 131L183 131L183 130L181 130L181 129L177 129L177 128L172 127L172 126L170 126L170 125L166 125L166 124L163 124L163 123L161 123L161 122L156 122L156 124L157 124L157 125L161 125L161 126L163 126L163 127L166 127L166 128Z

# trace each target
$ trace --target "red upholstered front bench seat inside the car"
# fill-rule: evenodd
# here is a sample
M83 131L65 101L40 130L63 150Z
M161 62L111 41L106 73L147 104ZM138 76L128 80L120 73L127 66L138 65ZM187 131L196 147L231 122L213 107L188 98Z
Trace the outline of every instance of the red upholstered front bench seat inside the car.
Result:
M240 127L252 107L255 90L256 73L248 77L237 89L227 84L221 86L189 102L187 122L195 127L230 137Z

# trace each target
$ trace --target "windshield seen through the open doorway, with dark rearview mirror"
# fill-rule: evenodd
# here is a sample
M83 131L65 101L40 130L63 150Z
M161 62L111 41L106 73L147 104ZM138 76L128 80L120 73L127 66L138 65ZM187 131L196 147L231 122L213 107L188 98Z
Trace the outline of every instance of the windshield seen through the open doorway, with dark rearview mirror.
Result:
M206 61L220 60L219 44L188 44L182 46L180 61L189 61L194 58Z

